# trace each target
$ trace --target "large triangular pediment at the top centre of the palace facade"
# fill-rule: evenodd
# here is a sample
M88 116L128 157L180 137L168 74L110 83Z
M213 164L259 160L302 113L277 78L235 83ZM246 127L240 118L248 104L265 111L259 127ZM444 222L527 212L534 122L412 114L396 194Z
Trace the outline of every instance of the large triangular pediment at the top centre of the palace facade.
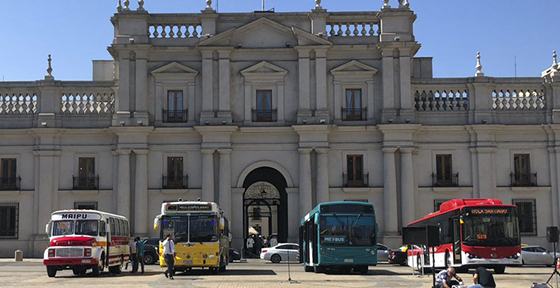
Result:
M332 45L305 30L288 27L266 17L234 27L201 41L198 46L230 46L242 48L285 48L287 45Z

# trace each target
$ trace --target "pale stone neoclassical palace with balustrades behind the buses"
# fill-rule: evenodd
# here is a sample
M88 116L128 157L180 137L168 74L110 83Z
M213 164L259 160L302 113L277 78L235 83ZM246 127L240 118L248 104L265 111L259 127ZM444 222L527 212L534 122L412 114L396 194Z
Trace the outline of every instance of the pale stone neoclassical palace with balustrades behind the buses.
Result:
M40 256L57 209L122 214L157 236L161 203L178 198L218 202L236 247L249 229L295 241L324 201L374 203L391 246L452 198L518 205L524 243L559 224L556 55L541 77L488 77L479 62L435 79L408 1L301 13L206 1L196 14L143 2L118 1L114 60L94 61L93 81L57 80L49 60L42 80L0 83L0 257Z

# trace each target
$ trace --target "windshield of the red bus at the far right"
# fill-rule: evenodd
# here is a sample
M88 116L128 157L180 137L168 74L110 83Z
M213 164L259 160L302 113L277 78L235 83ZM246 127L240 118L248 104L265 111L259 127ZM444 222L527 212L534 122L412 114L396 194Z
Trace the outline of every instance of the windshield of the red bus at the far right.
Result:
M463 244L469 246L518 246L519 223L512 208L463 210Z

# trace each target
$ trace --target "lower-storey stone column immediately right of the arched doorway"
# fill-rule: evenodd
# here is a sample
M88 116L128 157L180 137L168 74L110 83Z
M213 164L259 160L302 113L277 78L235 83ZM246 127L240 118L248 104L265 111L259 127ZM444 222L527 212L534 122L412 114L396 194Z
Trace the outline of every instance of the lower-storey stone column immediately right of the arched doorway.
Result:
M311 149L299 149L299 216L305 216L313 207L311 195Z

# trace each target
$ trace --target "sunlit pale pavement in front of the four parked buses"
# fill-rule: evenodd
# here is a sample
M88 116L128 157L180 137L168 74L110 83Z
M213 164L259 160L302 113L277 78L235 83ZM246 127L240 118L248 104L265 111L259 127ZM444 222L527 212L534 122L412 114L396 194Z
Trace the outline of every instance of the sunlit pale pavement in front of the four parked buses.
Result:
M0 259L0 287L212 287L212 288L330 288L330 287L431 287L431 275L419 277L412 275L410 267L380 264L370 267L367 275L360 274L315 274L306 273L298 263L272 264L257 259L245 263L232 263L225 273L214 274L208 270L192 270L178 273L175 280L163 275L158 265L146 266L144 275L132 275L124 271L120 275L100 277L91 275L74 276L71 270L59 271L56 278L47 277L41 259L26 259L14 262L13 259ZM129 266L130 269L130 266ZM553 268L547 267L508 267L506 273L495 275L498 287L529 288L533 282L546 282ZM459 274L467 284L472 276ZM291 278L292 281L289 281Z

